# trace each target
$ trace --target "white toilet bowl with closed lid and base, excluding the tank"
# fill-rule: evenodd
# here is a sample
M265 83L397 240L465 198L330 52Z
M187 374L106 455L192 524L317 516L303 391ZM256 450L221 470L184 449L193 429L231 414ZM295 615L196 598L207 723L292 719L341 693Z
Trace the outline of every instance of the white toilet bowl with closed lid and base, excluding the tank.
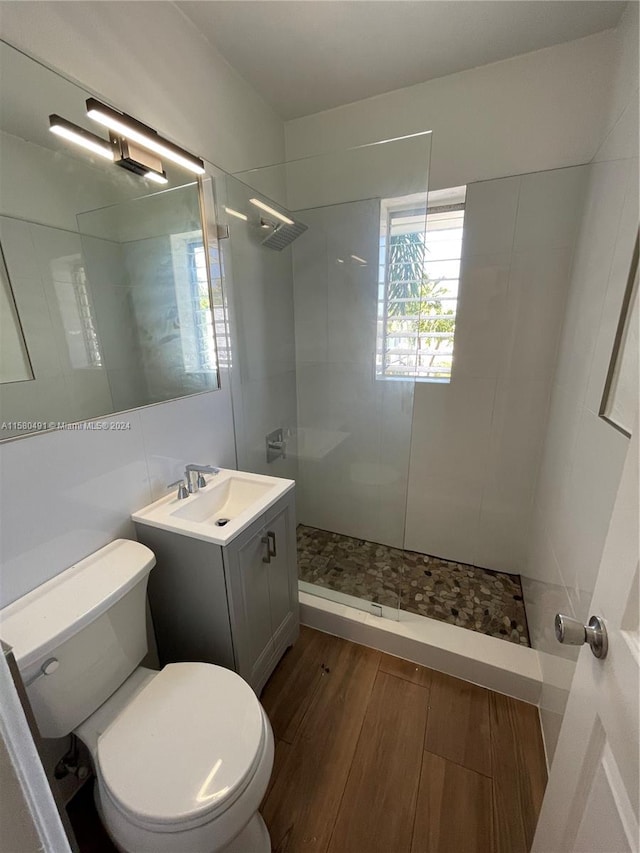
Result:
M273 734L234 672L205 663L138 667L75 734L93 757L96 806L121 850L270 851L257 811Z

